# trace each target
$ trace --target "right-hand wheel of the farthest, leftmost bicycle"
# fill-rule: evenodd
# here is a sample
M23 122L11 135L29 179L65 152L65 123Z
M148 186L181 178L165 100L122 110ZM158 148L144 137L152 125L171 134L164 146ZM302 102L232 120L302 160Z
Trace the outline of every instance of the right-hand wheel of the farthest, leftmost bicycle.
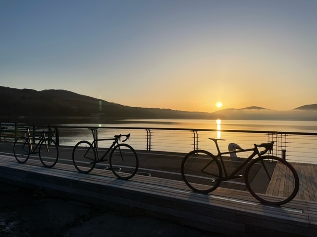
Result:
M39 157L42 164L47 167L53 167L58 159L58 148L52 138L43 139L39 147Z

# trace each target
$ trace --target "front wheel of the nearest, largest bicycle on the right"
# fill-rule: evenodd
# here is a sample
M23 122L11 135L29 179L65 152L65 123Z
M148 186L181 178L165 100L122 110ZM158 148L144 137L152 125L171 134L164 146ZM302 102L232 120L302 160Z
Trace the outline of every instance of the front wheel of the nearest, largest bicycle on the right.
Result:
M299 190L299 178L294 167L274 156L252 160L245 171L245 182L252 196L264 204L285 204Z

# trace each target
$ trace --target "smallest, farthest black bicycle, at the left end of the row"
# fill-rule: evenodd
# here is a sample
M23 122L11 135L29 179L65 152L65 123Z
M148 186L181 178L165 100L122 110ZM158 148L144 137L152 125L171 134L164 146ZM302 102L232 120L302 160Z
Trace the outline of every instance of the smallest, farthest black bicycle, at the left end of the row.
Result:
M31 154L38 153L42 164L47 168L52 168L58 160L58 148L52 139L55 131L56 129L54 131L42 131L30 135L30 129L27 128L27 137L20 136L14 141L13 153L16 160L19 163L25 163ZM46 137L46 134L48 134L48 137ZM39 142L33 147L31 138L35 141L37 136L39 136ZM37 148L39 148L38 152L36 151Z

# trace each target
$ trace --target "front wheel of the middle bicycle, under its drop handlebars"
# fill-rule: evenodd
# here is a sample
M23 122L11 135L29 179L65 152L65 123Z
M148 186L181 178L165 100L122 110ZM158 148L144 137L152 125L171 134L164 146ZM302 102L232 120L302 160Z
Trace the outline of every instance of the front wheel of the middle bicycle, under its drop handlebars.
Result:
M112 149L109 164L110 169L119 179L130 179L138 171L139 159L130 145L121 143Z

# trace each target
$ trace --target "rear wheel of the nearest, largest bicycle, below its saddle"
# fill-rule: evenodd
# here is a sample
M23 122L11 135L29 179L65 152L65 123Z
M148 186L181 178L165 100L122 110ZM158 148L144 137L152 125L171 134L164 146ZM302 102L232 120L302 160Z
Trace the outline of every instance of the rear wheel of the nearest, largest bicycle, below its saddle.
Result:
M210 152L195 150L183 158L181 173L184 182L193 191L209 193L221 183L217 179L222 177L222 168Z

